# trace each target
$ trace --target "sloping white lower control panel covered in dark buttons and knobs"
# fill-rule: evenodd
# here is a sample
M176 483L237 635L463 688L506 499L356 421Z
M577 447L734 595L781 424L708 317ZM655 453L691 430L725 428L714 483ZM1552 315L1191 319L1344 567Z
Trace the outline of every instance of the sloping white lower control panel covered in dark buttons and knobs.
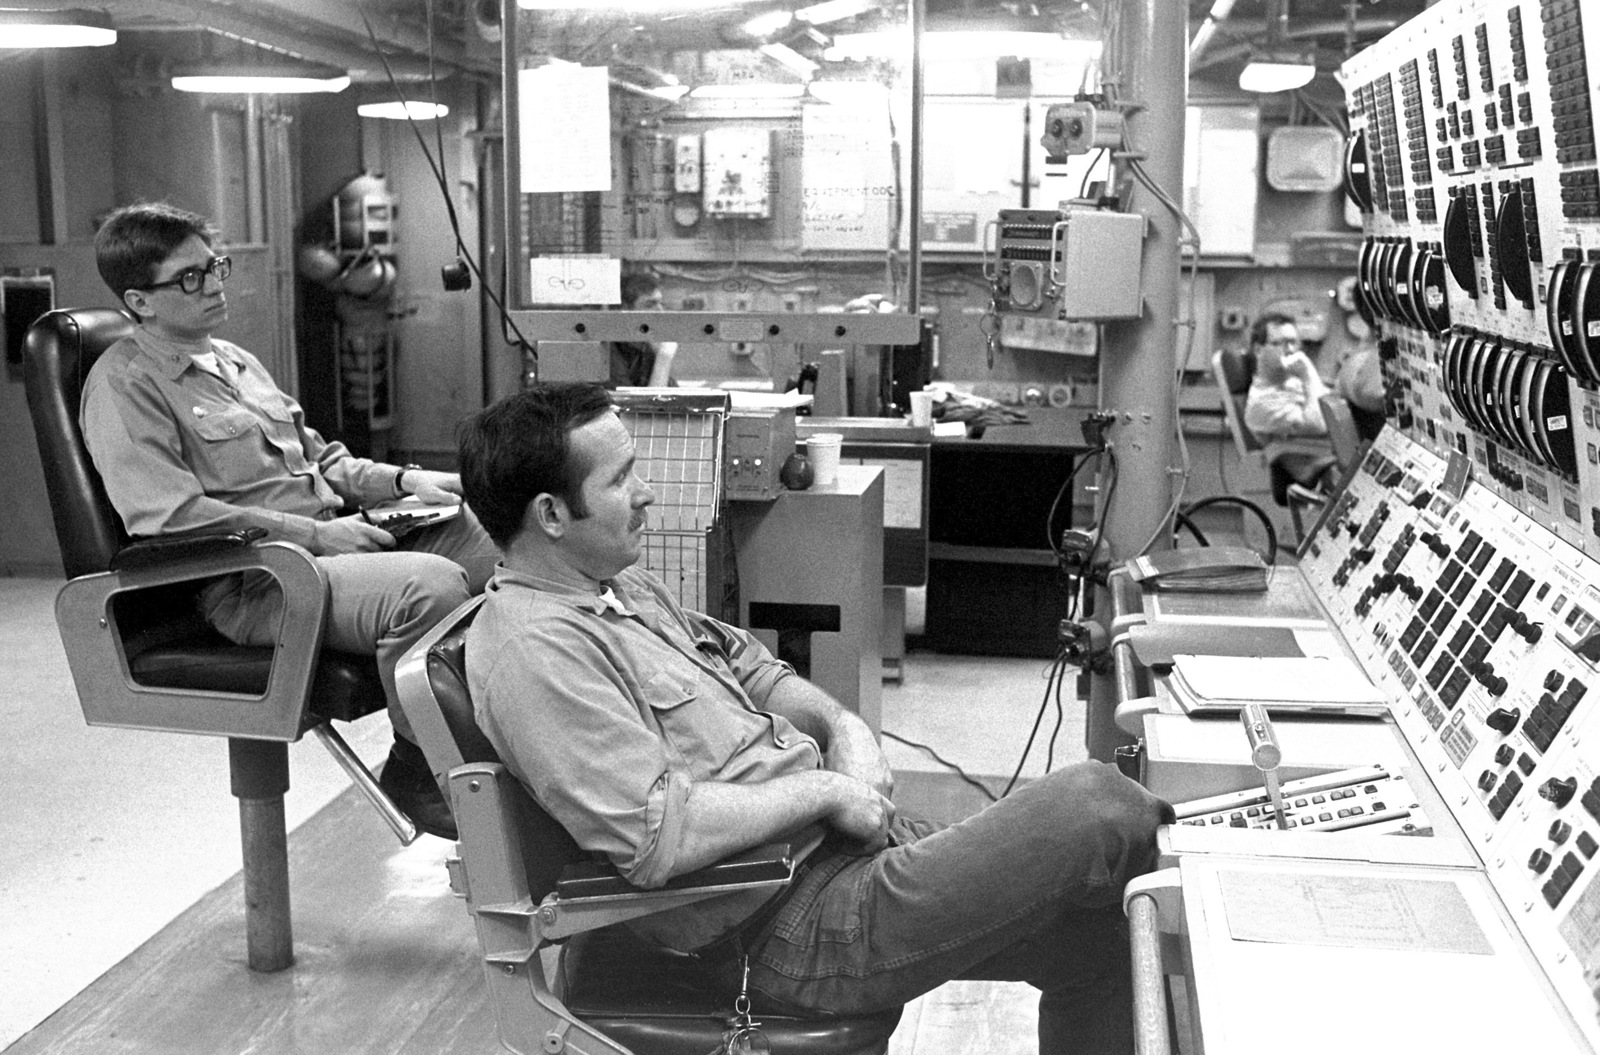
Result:
M1600 562L1475 471L1386 429L1301 568L1600 1047Z

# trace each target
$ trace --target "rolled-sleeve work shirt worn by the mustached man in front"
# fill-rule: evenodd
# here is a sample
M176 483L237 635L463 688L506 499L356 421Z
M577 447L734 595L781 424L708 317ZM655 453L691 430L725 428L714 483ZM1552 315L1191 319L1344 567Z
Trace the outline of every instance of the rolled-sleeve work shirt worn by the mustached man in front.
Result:
M648 572L610 594L501 567L467 631L478 725L506 767L586 850L630 882L677 871L698 781L762 783L822 767L818 743L762 711L794 674L749 632L685 612ZM766 893L638 921L677 949L720 937Z

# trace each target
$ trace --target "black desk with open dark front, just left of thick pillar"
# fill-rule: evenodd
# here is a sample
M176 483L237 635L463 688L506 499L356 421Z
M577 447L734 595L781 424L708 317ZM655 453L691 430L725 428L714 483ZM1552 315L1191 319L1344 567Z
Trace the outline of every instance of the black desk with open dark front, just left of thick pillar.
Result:
M930 467L926 644L966 655L1054 656L1069 594L1045 535L1090 450L1085 407L1030 407L1032 424L936 437ZM1078 482L1080 485L1085 480ZM1072 523L1072 496L1056 528Z

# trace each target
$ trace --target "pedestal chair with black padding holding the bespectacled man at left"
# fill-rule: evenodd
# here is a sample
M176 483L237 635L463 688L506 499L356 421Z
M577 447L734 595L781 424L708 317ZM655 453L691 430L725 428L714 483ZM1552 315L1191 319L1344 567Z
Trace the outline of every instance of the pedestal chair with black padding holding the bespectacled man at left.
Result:
M280 970L294 959L283 823L288 743L312 732L402 842L416 828L328 725L381 711L384 692L371 656L322 648L328 584L310 554L259 543L250 532L138 541L123 533L78 429L78 397L94 360L133 328L118 311L53 311L24 343L27 403L67 573L56 623L90 725L229 738L248 962ZM275 648L234 645L195 612L203 581L251 568L283 586Z

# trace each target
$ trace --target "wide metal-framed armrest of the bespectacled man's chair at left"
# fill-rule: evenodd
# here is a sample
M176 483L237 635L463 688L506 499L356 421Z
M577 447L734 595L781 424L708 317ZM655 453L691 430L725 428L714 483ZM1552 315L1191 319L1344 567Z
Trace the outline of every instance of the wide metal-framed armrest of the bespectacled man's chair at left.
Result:
M56 594L56 628L67 668L90 725L208 733L293 741L301 735L306 700L322 650L328 613L328 576L293 543L200 543L198 556L149 560L134 567L69 580ZM152 552L155 548L152 548ZM114 600L173 583L203 581L237 572L267 572L283 591L283 621L262 696L141 685L117 624Z

